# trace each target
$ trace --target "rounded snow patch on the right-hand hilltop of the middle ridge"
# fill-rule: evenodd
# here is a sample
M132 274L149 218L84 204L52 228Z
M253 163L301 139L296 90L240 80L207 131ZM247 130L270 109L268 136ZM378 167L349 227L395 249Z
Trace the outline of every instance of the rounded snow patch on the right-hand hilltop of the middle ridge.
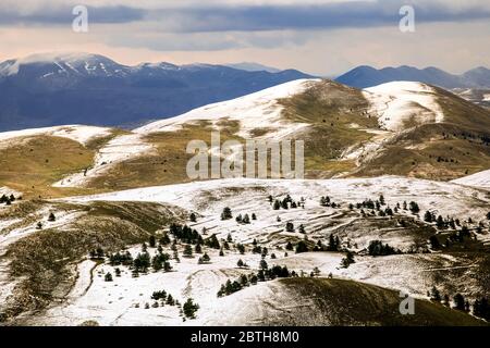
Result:
M436 89L421 83L388 83L367 88L364 95L372 105L370 112L378 115L380 126L388 130L444 121Z

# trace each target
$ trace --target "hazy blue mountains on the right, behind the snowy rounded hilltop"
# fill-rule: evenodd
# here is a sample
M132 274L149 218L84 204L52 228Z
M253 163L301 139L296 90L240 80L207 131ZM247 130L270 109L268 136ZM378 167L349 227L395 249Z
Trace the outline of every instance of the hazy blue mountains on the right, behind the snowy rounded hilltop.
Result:
M490 70L477 67L463 75L453 75L437 67L413 66L384 67L358 66L338 77L336 82L357 88L372 87L395 80L420 82L446 89L490 88Z

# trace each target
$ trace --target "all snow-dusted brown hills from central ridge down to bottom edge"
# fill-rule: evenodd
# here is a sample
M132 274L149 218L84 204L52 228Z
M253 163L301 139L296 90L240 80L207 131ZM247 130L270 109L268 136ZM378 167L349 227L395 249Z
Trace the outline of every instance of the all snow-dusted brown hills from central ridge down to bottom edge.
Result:
M306 177L192 182L186 144L212 130L302 139ZM132 130L0 133L0 152L4 324L489 319L490 112L440 88L298 79Z

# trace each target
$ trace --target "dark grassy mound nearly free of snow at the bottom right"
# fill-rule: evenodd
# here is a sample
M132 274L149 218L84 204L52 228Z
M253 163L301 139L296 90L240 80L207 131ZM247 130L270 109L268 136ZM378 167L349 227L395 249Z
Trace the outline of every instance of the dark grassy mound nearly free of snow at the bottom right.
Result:
M280 284L291 311L266 318L269 325L466 326L485 325L464 312L416 300L415 314L400 313L397 291L364 283L327 278L286 278Z

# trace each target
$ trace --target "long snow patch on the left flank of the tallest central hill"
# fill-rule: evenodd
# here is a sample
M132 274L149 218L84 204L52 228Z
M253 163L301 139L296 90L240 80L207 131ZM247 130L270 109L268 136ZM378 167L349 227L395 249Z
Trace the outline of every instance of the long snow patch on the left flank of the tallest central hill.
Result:
M217 124L220 121L238 121L240 132L236 134L241 137L249 138L252 137L250 130L268 128L272 129L267 134L268 138L280 139L298 132L308 124L285 122L281 117L283 107L279 104L279 99L302 94L318 82L319 79L293 80L245 97L195 109L176 117L157 121L136 128L134 132L150 134L179 130L183 124L193 124L198 121L210 121L219 129Z

